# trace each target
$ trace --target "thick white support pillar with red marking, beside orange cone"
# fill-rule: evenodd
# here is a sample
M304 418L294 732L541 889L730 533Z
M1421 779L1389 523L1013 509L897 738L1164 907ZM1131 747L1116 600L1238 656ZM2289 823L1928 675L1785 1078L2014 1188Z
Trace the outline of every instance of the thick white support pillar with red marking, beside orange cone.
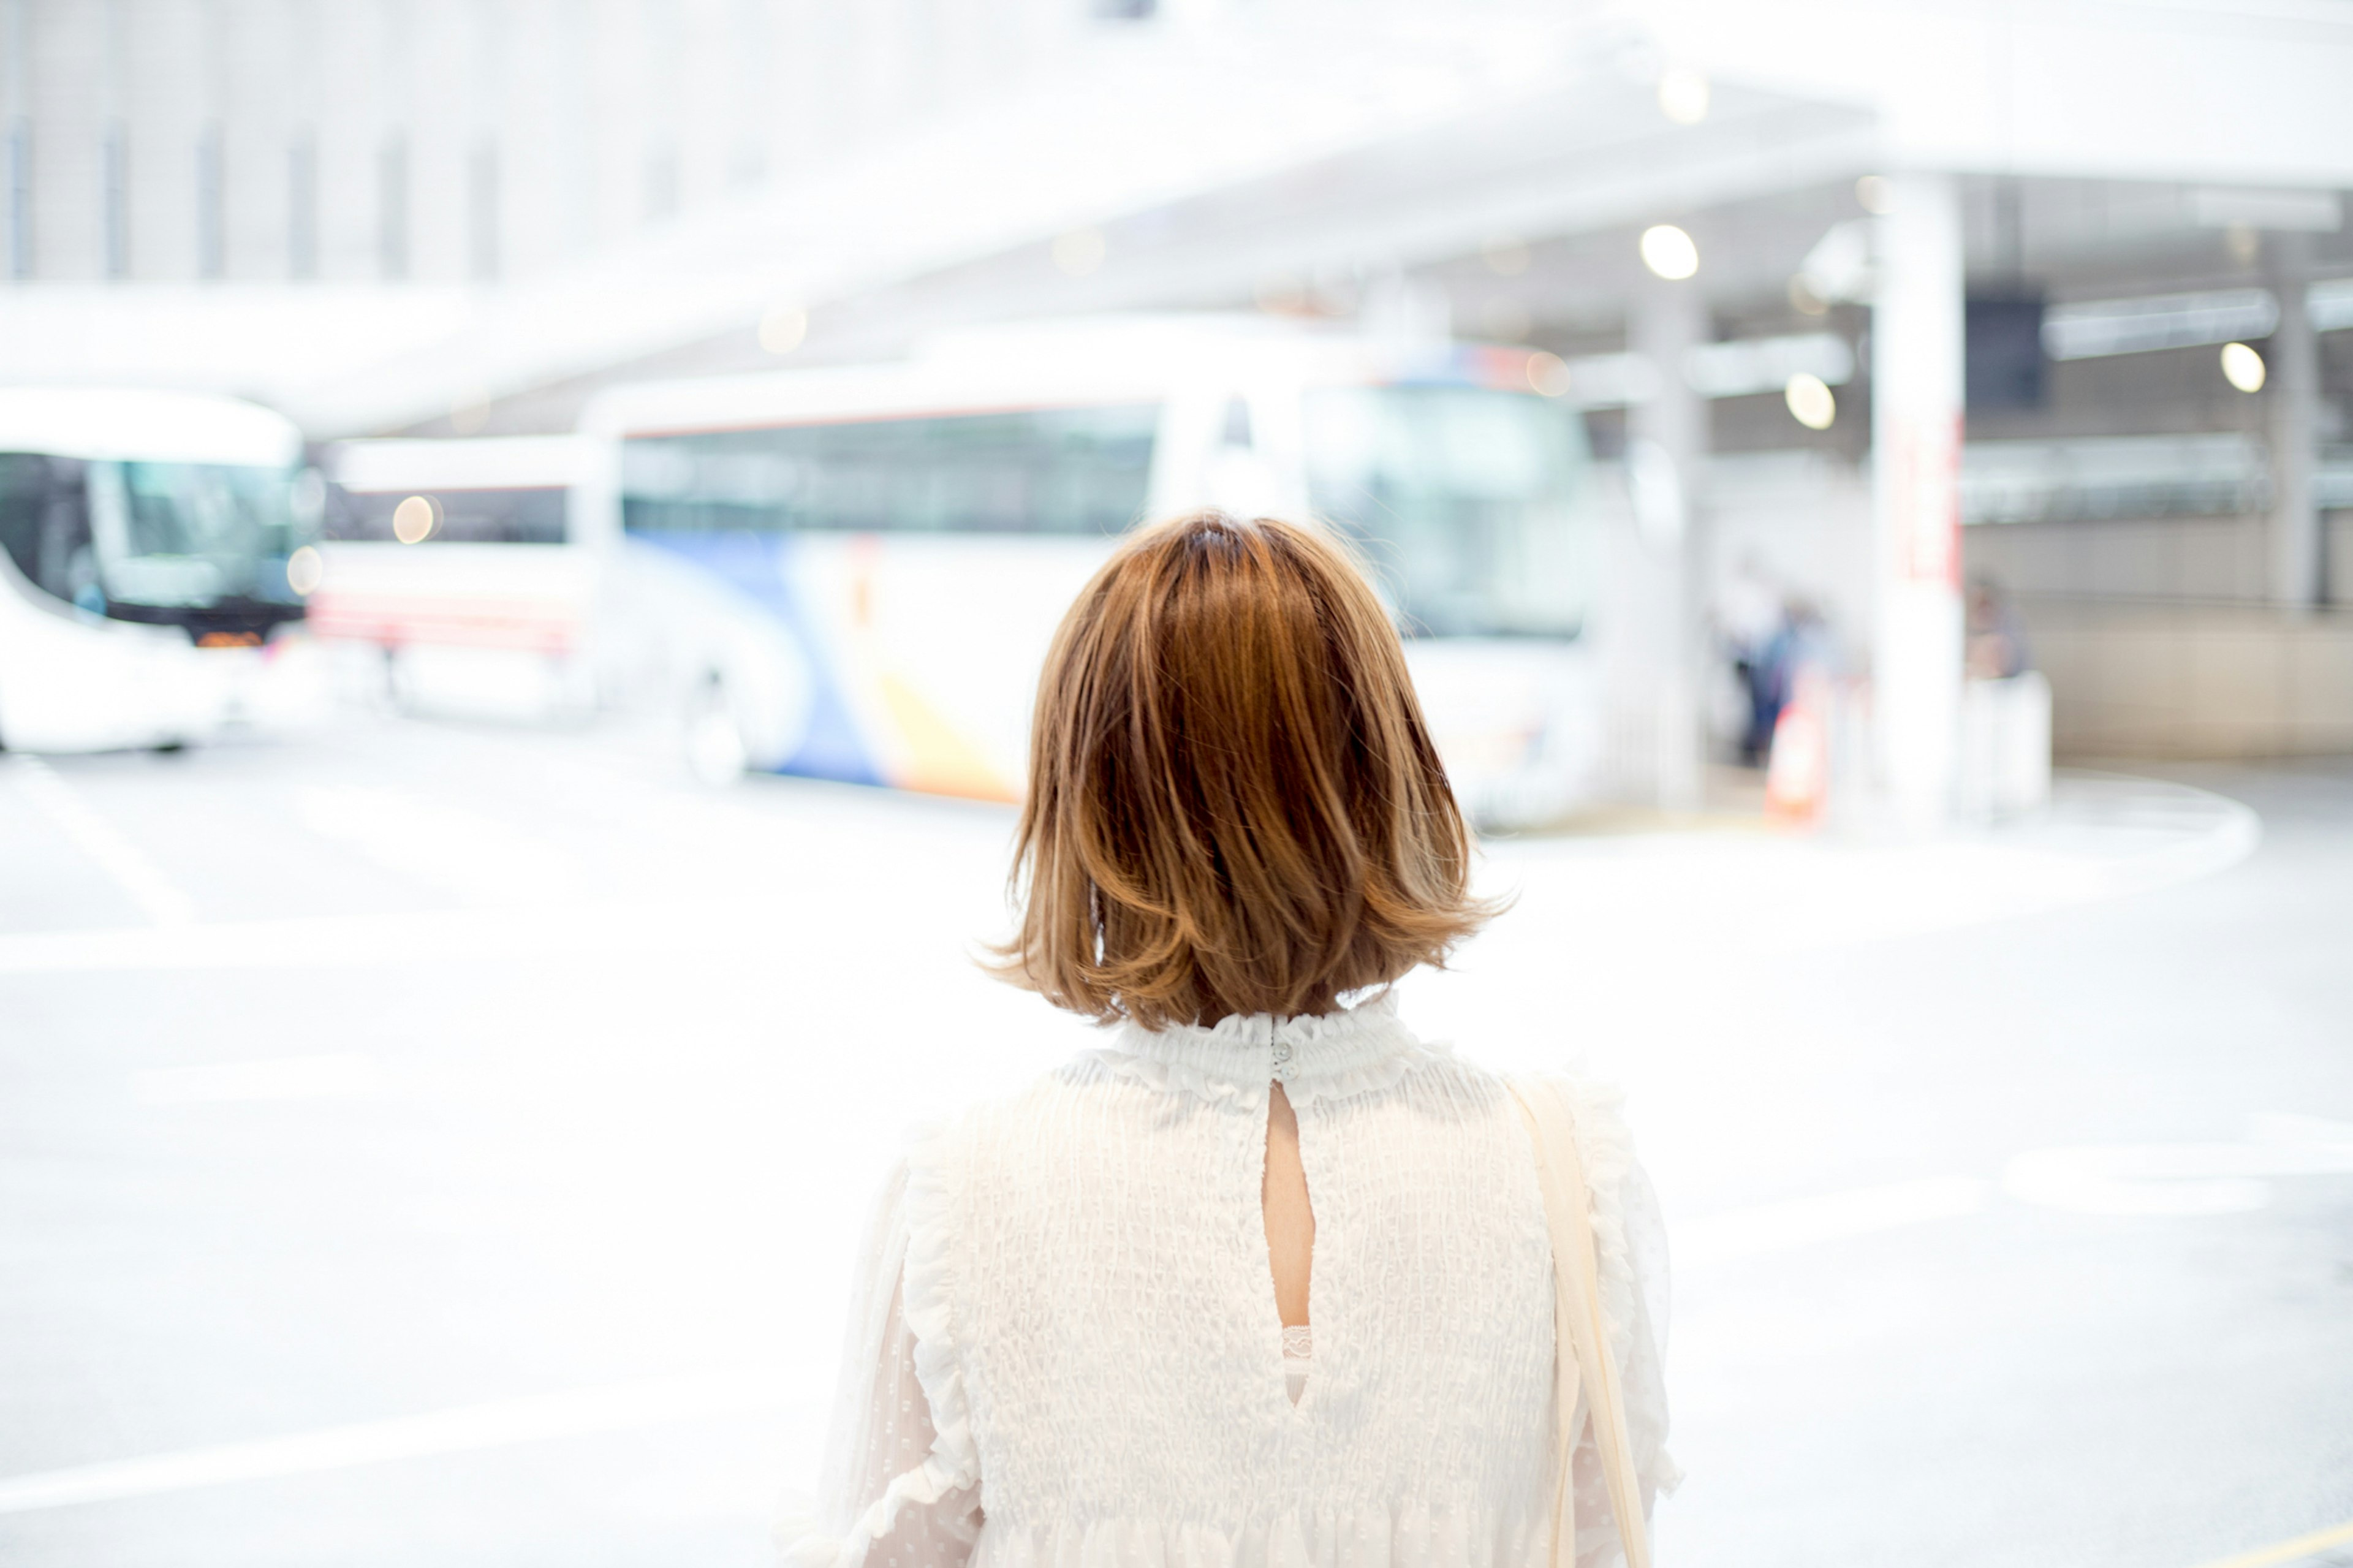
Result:
M1892 177L1871 313L1871 709L1897 822L1937 826L1960 742L1962 228L1948 174Z

